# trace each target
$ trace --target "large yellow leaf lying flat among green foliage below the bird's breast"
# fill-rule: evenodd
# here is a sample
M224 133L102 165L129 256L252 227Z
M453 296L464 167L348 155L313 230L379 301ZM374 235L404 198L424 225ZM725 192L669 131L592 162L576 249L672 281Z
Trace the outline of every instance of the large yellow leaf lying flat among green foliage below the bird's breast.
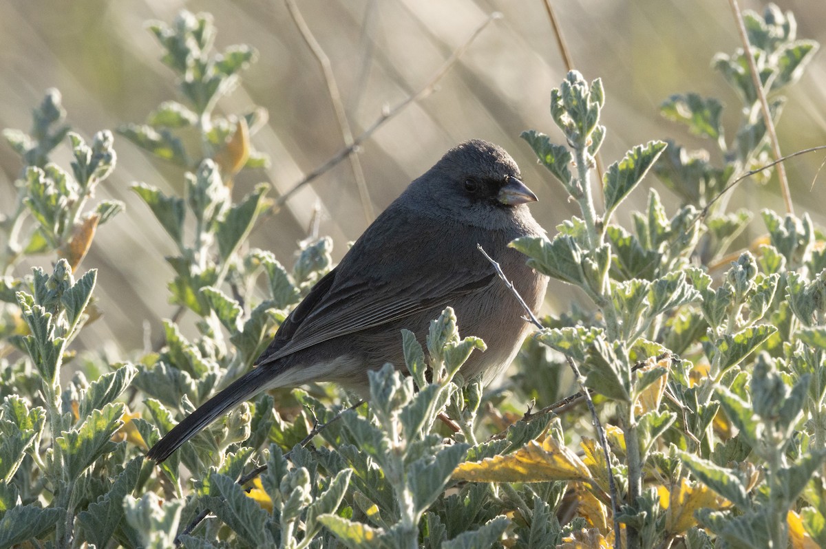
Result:
M453 478L477 482L592 480L577 454L553 437L545 438L542 444L532 440L507 456L463 463L453 471Z

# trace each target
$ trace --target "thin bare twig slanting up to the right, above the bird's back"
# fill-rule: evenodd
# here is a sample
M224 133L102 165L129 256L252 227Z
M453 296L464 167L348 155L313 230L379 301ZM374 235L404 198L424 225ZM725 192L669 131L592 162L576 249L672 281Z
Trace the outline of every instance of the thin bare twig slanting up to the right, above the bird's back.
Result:
M297 182L292 188L282 194L282 196L278 197L278 200L275 201L275 206L278 208L279 206L283 206L284 203L289 200L292 195L298 192L301 187L304 187L307 183L312 182L316 177L326 173L330 168L333 168L336 164L341 162L342 160L346 159L350 153L352 153L355 149L358 148L360 144L363 143L364 140L367 140L373 133L385 125L388 121L391 121L395 118L401 111L405 109L406 106L410 105L412 102L419 101L420 99L427 97L434 91L436 88L436 84L439 83L439 80L444 77L444 75L453 67L454 64L458 61L458 59L464 54L468 47L472 44L473 40L476 40L477 36L485 30L491 21L496 19L500 19L501 14L498 12L492 13L483 23L482 25L478 26L476 30L474 30L468 40L465 41L463 45L460 45L456 50L453 51L453 54L450 54L450 57L444 62L444 64L439 67L439 70L434 73L434 75L430 78L430 80L422 87L418 92L415 92L413 95L406 97L402 102L398 103L396 106L393 106L390 109L382 112L382 116L379 116L376 121L373 122L373 125L370 125L367 130L364 130L361 135L358 135L354 138L353 144L349 144L348 146L344 147L344 149L339 150L331 159L327 160L325 163L321 164L318 168L314 169L310 173L307 173L300 182Z

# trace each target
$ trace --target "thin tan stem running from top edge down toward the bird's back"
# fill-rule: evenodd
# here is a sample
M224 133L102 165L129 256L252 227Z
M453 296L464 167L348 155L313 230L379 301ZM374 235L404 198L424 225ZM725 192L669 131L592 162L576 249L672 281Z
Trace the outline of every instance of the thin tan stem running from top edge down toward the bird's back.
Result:
M312 34L310 26L306 24L304 17L301 16L301 11L295 0L285 0L287 3L287 11L292 16L292 21L301 32L301 37L304 38L307 47L310 48L313 55L315 55L318 64L321 66L321 72L324 73L324 80L327 83L327 92L330 94L330 102L333 103L333 110L335 111L335 118L339 122L339 130L341 136L344 138L344 145L350 147L353 145L353 131L350 130L350 123L347 120L347 113L344 111L344 102L341 101L341 93L339 92L339 85L335 82L335 74L333 73L330 58L325 54L324 49ZM353 151L347 155L350 160L350 167L353 169L353 177L356 180L356 187L358 187L358 196L361 197L362 209L364 211L364 218L368 223L375 219L376 214L373 211L373 201L370 200L370 192L367 188L367 182L364 180L364 172L361 167L361 161L358 159L358 154L353 154Z

